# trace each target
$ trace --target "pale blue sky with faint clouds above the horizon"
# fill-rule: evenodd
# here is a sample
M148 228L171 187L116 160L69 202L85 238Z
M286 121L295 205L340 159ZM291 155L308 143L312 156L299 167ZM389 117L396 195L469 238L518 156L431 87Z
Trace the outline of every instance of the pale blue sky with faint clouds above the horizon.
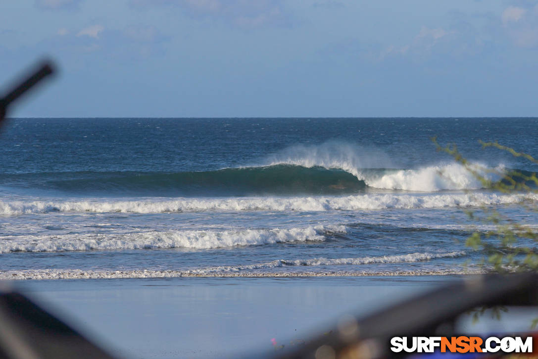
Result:
M538 1L2 2L2 86L44 56L11 116L538 115Z

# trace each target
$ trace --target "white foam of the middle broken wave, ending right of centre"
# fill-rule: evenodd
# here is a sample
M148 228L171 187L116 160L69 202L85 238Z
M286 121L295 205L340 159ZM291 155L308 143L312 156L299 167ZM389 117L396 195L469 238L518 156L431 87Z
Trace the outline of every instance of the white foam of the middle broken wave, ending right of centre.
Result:
M324 241L324 234L343 232L344 226L315 226L291 229L185 230L125 234L66 234L54 236L13 236L0 240L0 253L56 252L85 250L129 250L170 248L226 248L285 242Z

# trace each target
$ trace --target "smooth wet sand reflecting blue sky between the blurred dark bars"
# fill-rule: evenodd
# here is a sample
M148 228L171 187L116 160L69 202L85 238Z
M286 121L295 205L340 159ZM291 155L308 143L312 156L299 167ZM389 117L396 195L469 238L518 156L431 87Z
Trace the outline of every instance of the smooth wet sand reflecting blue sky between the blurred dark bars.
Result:
M111 353L232 357L290 345L455 276L13 281ZM52 304L52 305L51 305Z

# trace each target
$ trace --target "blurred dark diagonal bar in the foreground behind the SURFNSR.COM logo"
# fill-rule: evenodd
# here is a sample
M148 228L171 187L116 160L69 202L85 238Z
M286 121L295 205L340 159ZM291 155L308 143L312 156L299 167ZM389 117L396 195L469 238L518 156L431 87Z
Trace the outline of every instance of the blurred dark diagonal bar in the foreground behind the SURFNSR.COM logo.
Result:
M365 318L350 316L302 347L277 356L299 358L397 358L394 336L458 336L460 314L477 307L538 305L538 275L487 274L463 278ZM529 318L529 324L532 318ZM327 355L325 355L327 354ZM449 353L447 353L449 354ZM491 356L491 355L490 355Z

